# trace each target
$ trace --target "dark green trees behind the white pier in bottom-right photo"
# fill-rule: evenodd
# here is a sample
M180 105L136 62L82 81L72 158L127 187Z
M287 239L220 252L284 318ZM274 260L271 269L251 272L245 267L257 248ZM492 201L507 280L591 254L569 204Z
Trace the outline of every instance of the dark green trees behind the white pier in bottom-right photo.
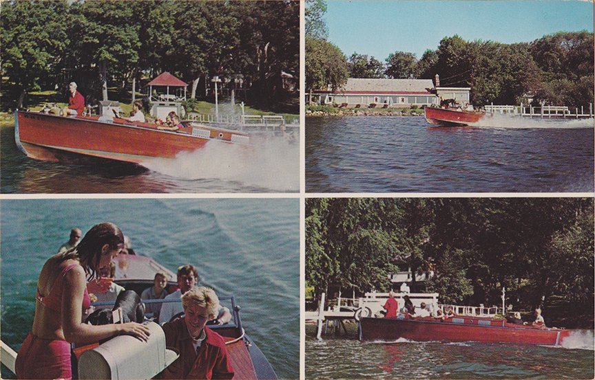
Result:
M434 270L411 291L453 304L594 310L592 198L306 199L306 284L360 294ZM415 276L413 276L415 280Z

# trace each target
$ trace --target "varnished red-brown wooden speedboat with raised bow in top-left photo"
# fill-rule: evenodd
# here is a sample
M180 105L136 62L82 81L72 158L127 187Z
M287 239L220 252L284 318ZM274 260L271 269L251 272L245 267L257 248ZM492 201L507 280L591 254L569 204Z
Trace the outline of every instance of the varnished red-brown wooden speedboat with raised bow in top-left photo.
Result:
M238 131L183 122L178 131L158 129L158 124L128 122L109 115L58 116L16 111L14 137L17 146L34 159L76 162L82 157L101 157L140 164L147 159L174 159L209 141L249 144Z

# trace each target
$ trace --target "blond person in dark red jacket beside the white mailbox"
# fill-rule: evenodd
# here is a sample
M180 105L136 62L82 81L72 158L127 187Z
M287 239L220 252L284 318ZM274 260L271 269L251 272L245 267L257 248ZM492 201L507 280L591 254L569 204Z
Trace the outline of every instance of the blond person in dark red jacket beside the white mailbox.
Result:
M205 326L217 317L219 299L213 289L194 287L182 295L185 316L163 325L165 346L180 357L160 374L161 379L231 379L234 372L225 341Z

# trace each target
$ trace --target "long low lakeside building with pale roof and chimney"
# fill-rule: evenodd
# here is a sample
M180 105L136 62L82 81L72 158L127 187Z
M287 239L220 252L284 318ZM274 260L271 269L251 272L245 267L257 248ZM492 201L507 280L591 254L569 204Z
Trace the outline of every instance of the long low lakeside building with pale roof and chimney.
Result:
M435 83L436 82L436 83ZM440 98L469 103L470 87L439 87L437 75L431 79L348 78L331 91L312 91L316 104L336 104L345 108L410 108L440 104Z

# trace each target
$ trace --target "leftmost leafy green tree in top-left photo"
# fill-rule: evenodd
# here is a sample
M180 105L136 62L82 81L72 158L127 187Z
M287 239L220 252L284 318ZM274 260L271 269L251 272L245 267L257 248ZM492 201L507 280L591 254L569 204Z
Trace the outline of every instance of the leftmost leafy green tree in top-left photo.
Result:
M2 76L17 87L16 107L25 93L58 82L70 45L67 1L2 1L0 3Z

